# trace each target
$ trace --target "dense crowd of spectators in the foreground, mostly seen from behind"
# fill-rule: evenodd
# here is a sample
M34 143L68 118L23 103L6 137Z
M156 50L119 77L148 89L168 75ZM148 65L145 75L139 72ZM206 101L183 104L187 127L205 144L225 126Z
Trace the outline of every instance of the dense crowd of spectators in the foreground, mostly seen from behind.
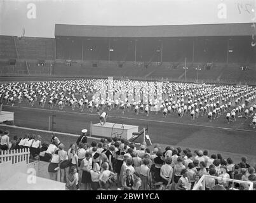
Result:
M1 131L1 149L8 134ZM209 155L208 150L162 149L156 144L151 152L145 145L136 147L118 138L88 143L84 134L67 151L54 135L50 143L41 143L35 135L15 137L8 148L30 148L31 157L50 162L50 179L66 183L69 190L192 190L204 174L222 178L206 178L205 190L248 190L248 184L232 185L226 178L251 181L256 188L256 165L250 166L246 157L235 164L231 157Z

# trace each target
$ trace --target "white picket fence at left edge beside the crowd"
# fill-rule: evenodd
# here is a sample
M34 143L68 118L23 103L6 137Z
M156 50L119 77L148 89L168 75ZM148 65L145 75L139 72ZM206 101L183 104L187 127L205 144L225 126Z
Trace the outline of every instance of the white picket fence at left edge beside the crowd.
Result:
M18 150L1 151L0 163L11 161L12 164L25 161L29 164L30 151L29 148L22 148Z

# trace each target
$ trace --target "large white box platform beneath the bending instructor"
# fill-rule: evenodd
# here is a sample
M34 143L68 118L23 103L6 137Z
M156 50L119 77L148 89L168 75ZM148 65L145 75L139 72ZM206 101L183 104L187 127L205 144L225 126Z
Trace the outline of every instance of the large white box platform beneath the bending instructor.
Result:
M92 136L103 137L121 137L129 140L132 137L132 133L138 132L138 126L131 126L126 124L114 124L112 122L106 122L104 126L100 123L91 125Z

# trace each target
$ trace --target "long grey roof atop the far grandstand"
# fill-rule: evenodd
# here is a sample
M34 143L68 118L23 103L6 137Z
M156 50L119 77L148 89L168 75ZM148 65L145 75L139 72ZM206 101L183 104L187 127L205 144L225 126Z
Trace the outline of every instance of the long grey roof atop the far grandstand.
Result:
M199 37L199 36L251 36L252 23L207 25L55 25L55 36L74 37Z

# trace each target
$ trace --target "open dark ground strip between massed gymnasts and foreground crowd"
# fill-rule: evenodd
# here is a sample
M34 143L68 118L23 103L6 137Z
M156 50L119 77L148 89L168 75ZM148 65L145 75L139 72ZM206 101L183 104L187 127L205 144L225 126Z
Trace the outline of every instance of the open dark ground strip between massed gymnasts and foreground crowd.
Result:
M39 80L32 79L32 81ZM16 103L14 107L4 105L3 110L14 112L16 126L44 130L48 130L48 118L54 114L56 115L55 131L64 133L80 134L83 128L90 130L90 122L92 124L99 122L96 112L91 114L86 108L83 112L77 108L72 111L71 107L67 106L64 110L59 110L57 107L50 109L47 104L41 108L38 101L35 102L34 107L23 101L20 104ZM206 116L191 121L186 115L180 119L177 115L163 118L161 113L158 115L151 113L149 117L145 117L143 114L135 115L133 112L121 114L118 110L112 110L109 112L107 122L135 125L139 126L139 129L149 126L148 134L152 143L256 155L256 130L248 127L251 119L237 118L236 122L227 124L225 115L209 122Z

